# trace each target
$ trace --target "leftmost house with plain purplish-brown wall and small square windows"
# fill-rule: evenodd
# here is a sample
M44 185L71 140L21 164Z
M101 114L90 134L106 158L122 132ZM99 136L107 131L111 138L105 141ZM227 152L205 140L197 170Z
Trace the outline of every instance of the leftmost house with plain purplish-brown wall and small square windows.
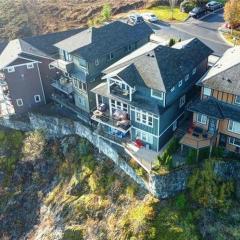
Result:
M0 115L21 114L50 100L56 70L49 63L58 54L54 43L80 29L0 43Z

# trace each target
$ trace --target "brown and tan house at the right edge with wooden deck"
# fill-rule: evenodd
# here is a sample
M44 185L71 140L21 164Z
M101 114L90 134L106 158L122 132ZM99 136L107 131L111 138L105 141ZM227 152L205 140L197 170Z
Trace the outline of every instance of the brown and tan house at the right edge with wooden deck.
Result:
M201 98L188 109L193 124L182 145L240 152L240 47L227 50L199 85Z

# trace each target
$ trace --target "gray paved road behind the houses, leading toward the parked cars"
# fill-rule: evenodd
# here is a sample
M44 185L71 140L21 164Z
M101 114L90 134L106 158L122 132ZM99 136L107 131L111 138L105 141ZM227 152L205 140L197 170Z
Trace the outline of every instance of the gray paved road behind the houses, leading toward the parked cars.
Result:
M218 33L218 28L224 23L223 10L213 13L202 20L189 19L184 23L172 25L159 23L150 24L163 39L181 38L182 40L197 37L214 50L214 54L221 56L230 46Z

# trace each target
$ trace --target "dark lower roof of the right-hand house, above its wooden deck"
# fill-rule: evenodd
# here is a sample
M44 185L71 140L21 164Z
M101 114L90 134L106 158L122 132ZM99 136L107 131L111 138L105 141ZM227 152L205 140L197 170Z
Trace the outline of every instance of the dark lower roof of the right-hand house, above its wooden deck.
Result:
M232 119L240 121L240 108L228 103L220 102L214 98L197 100L189 106L189 111L200 112L202 114L217 119Z

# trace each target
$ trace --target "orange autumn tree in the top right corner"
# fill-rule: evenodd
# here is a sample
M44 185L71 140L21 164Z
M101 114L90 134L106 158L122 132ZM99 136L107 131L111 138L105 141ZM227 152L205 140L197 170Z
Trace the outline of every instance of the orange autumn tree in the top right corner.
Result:
M229 0L224 7L224 19L234 29L240 24L240 1Z

